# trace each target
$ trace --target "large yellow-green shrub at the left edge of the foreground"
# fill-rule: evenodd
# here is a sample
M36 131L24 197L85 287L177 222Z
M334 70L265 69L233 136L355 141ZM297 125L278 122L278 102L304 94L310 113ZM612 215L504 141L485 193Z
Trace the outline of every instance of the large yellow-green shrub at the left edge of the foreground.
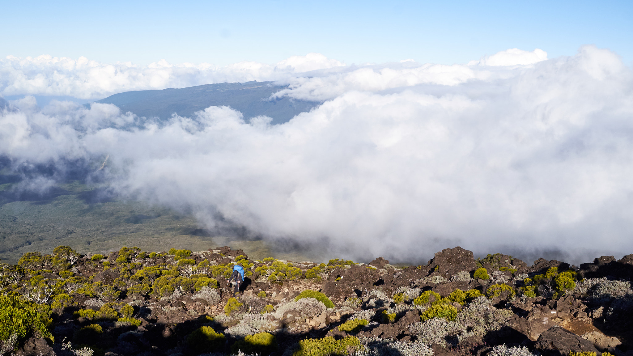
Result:
M40 312L36 305L25 303L16 296L0 295L0 340L8 340L15 334L19 343L34 333L54 340L48 330L51 324L51 319L47 319L50 310L48 313L43 311Z

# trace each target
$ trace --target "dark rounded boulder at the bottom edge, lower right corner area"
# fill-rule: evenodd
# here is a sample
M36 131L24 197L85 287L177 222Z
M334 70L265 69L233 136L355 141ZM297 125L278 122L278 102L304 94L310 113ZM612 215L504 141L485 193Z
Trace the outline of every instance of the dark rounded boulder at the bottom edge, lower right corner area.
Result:
M539 336L534 348L549 356L568 356L569 352L595 352L598 349L591 341L560 326L550 327Z

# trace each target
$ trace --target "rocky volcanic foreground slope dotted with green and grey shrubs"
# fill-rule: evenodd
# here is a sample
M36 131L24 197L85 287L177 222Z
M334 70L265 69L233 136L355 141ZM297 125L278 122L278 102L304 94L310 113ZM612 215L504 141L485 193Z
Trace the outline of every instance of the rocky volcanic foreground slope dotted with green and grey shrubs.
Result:
M235 264L248 277L229 300ZM475 260L456 247L399 269L384 258L250 260L228 246L107 256L60 247L3 265L2 275L6 298L37 308L46 324L21 334L0 321L6 354L633 355L633 255L528 265L499 253ZM332 305L296 300L306 290ZM211 336L199 338L201 330ZM261 333L274 342L254 343ZM318 351L304 341L326 338L354 346Z

